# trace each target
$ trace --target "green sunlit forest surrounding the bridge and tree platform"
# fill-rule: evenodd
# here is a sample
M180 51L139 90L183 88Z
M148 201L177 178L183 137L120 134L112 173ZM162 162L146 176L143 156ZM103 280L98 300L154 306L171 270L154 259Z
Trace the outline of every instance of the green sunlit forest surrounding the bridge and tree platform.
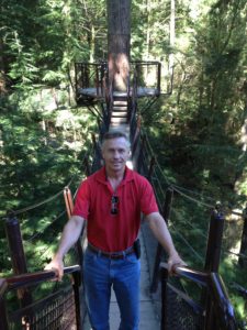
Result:
M96 118L76 106L74 63L106 59L106 3L0 3L0 216L24 210L19 220L32 271L43 268L56 246L66 221L60 191L68 183L76 191L85 176L82 161L90 158L91 133L98 132ZM238 212L247 206L246 12L245 0L132 1L131 58L160 61L164 73L171 55L173 61L172 95L146 112L138 107L166 184ZM180 201L171 216L176 243L198 267L210 219L200 202ZM247 286L246 268L234 255L244 222L227 215L221 274L244 324L246 301L234 290ZM0 223L5 275L12 267ZM200 257L186 250L179 231Z

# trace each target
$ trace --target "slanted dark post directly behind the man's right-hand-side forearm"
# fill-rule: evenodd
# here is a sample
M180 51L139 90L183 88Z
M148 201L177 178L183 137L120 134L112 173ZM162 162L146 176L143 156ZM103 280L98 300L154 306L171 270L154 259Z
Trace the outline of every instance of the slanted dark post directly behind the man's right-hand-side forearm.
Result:
M164 209L162 209L162 216L164 216L164 219L167 222L167 224L168 224L168 220L170 217L172 198L173 198L173 189L168 188L167 193L166 193ZM153 271L153 279L151 279L151 285L150 285L151 293L155 293L158 287L158 274L159 274L159 264L161 261L161 254L162 254L162 246L158 243L157 250L156 250L155 265L154 265L154 271Z

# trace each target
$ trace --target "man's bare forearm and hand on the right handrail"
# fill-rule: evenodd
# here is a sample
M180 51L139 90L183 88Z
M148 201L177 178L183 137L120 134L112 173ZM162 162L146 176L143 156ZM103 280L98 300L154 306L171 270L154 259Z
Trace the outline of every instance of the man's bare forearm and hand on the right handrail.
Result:
M169 255L169 273L172 273L172 267L175 265L186 265L186 263L181 260L177 250L175 249L170 232L162 216L159 212L153 212L146 216L146 220L148 221L154 235Z

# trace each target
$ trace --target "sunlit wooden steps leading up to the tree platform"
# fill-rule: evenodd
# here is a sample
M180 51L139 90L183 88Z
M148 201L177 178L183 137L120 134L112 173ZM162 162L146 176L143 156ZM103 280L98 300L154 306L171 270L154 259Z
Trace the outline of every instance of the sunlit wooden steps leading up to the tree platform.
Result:
M127 124L127 97L113 96L113 107L111 116L111 127Z

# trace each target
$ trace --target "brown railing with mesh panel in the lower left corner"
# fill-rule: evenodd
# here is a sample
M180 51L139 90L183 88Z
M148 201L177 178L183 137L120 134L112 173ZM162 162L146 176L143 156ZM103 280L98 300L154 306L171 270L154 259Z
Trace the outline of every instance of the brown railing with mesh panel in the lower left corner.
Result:
M9 292L57 280L57 273L42 271L0 278L0 330L71 329L72 326L82 329L80 266L65 267L64 273L70 274L70 284L15 311L7 309L5 296Z

